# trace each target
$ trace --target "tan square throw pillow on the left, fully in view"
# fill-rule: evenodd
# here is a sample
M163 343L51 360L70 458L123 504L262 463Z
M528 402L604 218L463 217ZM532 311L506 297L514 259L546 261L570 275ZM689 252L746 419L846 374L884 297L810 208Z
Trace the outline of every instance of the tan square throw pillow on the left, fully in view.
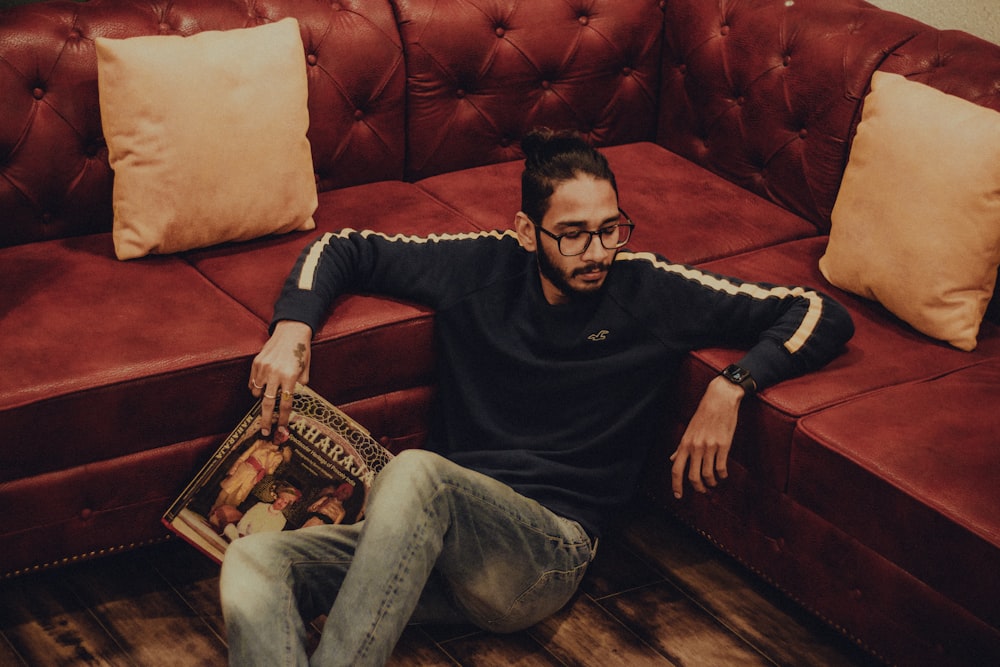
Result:
M315 228L298 22L97 39L115 254Z

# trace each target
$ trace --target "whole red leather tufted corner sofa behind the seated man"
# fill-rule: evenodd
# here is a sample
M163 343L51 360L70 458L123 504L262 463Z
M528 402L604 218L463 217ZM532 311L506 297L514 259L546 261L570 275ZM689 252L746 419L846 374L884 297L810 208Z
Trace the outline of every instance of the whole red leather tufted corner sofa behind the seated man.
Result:
M730 479L678 502L667 456L739 352L691 355L645 497L888 662L998 662L995 314L958 351L817 263L873 73L1000 110L1000 46L861 0L0 11L0 571L165 536L161 513L249 408L250 361L313 234L116 260L94 37L287 16L305 47L318 232L506 228L518 139L572 127L606 147L634 247L844 303L845 353L748 402ZM426 309L344 298L317 334L312 385L391 446L419 446L432 328Z

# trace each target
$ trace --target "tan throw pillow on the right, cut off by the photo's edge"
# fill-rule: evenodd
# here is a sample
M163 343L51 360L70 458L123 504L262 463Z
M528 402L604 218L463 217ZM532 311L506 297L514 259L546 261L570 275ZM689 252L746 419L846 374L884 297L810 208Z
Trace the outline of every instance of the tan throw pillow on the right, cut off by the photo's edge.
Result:
M1000 264L1000 113L878 72L820 270L973 350Z

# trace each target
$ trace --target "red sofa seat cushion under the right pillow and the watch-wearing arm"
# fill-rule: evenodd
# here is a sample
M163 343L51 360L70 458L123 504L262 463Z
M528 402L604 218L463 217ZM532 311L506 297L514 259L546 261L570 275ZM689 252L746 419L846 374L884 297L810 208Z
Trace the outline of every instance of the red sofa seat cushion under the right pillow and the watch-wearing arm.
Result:
M792 433L801 417L884 387L1000 359L997 325L984 323L976 351L962 352L900 326L877 303L833 287L818 268L825 247L825 237L803 239L701 265L747 280L814 287L840 301L854 319L855 334L843 354L819 372L766 389L744 409L733 456L778 489L787 484ZM719 348L695 352L687 369L695 381L685 384L690 395L681 396L682 404L700 398L711 377L741 355Z

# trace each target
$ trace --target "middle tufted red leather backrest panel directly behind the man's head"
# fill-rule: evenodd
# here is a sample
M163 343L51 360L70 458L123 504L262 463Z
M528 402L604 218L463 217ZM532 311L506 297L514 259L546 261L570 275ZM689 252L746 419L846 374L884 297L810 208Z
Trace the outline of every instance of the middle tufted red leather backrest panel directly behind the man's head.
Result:
M662 4L397 0L408 177L518 158L539 125L652 140Z

